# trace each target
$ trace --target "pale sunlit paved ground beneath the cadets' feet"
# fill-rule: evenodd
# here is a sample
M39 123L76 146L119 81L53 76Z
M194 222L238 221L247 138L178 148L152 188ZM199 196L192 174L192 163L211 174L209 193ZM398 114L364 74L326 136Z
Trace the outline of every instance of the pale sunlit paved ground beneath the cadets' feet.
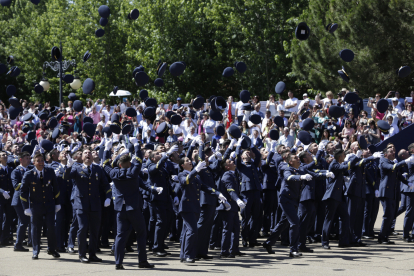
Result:
M376 230L381 223L382 209L376 223ZM402 233L403 216L397 221L396 229ZM12 247L0 248L0 275L213 275L237 274L242 275L414 275L414 243L402 241L402 235L391 238L395 245L377 245L374 240L366 241L369 246L364 248L339 249L332 242L331 250L323 250L320 244L309 245L315 253L306 254L302 258L288 257L288 248L277 245L276 254L269 255L263 248L244 249L246 257L231 261L218 259L219 252L211 251L215 258L209 261L196 262L195 266L186 266L179 261L177 243L167 242L172 253L168 258L149 257L149 262L155 264L152 270L138 269L137 254L126 255L124 271L115 271L114 257L109 256L109 249L103 249L99 255L104 261L100 264L81 264L77 255L62 253L60 259L41 251L39 260L31 259L32 253L16 253ZM259 240L260 242L263 239ZM44 244L46 240L43 240Z

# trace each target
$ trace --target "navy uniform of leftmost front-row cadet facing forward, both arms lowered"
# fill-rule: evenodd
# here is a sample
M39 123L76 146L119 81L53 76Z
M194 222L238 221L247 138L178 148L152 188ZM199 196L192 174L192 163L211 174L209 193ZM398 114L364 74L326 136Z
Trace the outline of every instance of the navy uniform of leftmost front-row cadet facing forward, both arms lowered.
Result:
M59 204L59 184L53 169L44 167L42 172L36 168L23 175L20 199L24 210L32 212L33 255L40 250L40 234L43 217L47 225L47 242L50 251L56 250L55 205Z

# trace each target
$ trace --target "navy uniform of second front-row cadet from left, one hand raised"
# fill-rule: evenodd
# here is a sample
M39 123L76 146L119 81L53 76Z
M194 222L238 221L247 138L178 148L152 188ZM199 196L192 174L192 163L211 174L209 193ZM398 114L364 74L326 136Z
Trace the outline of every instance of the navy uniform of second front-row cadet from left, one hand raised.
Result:
M88 168L89 167L89 168ZM95 164L72 166L70 177L74 184L74 203L79 224L79 256L86 256L86 237L89 228L89 257L96 256L101 225L101 193L111 197L111 188L101 167Z

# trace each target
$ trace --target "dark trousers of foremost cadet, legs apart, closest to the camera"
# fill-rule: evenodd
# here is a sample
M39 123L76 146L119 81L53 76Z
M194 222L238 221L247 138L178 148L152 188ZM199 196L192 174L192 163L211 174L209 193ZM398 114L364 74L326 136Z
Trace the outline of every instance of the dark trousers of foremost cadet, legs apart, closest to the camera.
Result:
M144 216L141 210L126 211L125 205L122 211L116 211L117 234L115 239L115 262L121 265L125 255L125 245L131 230L134 230L137 238L138 261L140 263L147 261L147 252L145 249L147 241L147 231Z

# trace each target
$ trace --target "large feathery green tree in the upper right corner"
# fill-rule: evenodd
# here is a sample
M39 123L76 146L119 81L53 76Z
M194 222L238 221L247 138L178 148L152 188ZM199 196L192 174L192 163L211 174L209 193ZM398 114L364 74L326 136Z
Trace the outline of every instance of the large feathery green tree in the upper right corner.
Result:
M309 89L339 91L356 88L362 96L399 90L408 96L412 76L401 79L396 70L414 61L414 2L408 0L311 0L300 16L311 29L306 41L292 40L292 76ZM338 23L330 34L329 23ZM352 62L339 57L342 49L355 53ZM345 67L349 84L337 71Z

